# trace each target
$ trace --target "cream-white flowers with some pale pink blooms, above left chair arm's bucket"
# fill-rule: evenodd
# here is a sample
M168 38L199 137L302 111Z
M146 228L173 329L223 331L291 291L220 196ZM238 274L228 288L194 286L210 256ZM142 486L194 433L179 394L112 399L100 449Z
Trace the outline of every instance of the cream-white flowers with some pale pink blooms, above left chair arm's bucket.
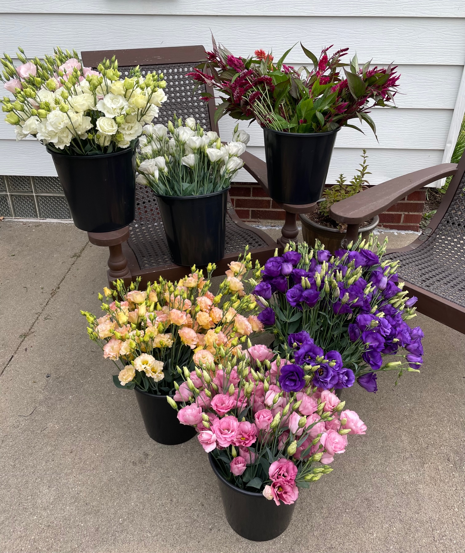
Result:
M98 71L84 67L76 50L55 48L54 55L28 60L19 48L15 67L1 59L5 96L2 111L16 127L17 140L29 134L54 152L108 154L134 146L142 124L158 116L166 101L163 74L141 76L139 66L120 79L118 61L103 60Z

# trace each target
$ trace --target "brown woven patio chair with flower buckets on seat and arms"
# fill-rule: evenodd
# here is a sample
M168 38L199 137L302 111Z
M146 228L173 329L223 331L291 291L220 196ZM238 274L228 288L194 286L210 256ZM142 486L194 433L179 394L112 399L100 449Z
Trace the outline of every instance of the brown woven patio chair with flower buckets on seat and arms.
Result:
M173 112L176 112L177 116L182 118L193 116L205 129L218 132L213 119L214 100L207 103L200 100L203 93L212 93L212 90L203 85L193 92L195 83L186 77L187 72L192 71L195 65L205 59L203 46L86 51L82 52L82 61L87 67L97 67L104 58L109 59L113 55L118 59L123 76L136 65L140 66L142 72L161 71L165 75L168 101L163 103L155 122L166 124L172 118ZM245 161L245 169L268 191L266 164L250 153L243 154L242 159ZM252 258L264 263L273 255L278 245L282 246L289 238L297 236L295 213L302 207L287 206L292 214L290 218L286 217L282 241L277 244L265 232L242 222L237 217L228 196L225 257L217 263L216 273L223 273L227 269L227 264L237 259L239 253L244 251L246 244L250 247ZM311 206L307 207L311 209ZM288 219L291 222L293 220L293 227ZM129 227L114 232L88 233L88 236L93 244L109 247L109 283L115 278L134 280L136 276L141 276L144 284L147 280L154 281L160 275L177 279L186 273L185 267L175 265L171 259L156 196L148 186L136 186L136 218Z

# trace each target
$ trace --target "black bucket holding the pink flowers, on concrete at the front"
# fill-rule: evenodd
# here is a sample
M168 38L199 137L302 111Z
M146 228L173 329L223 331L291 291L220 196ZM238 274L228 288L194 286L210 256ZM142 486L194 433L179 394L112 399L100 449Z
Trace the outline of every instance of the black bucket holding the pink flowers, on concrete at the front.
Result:
M237 534L247 540L268 541L286 530L297 502L277 505L273 499L266 499L261 493L236 488L221 476L211 453L208 454L208 460L218 478L226 519Z

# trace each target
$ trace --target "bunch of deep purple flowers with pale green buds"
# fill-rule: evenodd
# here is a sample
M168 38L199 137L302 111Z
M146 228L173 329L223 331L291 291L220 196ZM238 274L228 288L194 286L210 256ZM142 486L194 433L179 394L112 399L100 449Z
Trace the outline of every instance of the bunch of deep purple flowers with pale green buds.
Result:
M319 388L357 380L376 392L378 371L418 372L424 333L406 323L416 298L399 282L399 262L382 260L385 248L373 236L334 255L319 242L297 251L291 243L265 263L254 290L258 319L276 336L273 347L313 371ZM383 364L383 354L396 358Z

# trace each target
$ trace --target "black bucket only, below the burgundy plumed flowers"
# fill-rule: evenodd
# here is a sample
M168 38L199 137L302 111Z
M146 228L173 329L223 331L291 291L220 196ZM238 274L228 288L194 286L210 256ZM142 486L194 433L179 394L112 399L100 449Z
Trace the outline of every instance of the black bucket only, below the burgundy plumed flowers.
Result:
M263 129L273 200L301 205L321 198L337 131L300 134Z

